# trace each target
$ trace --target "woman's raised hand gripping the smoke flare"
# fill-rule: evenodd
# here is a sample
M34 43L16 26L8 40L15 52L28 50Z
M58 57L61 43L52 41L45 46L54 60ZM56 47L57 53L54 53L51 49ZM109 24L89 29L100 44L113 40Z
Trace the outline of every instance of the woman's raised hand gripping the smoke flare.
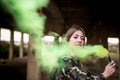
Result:
M115 72L115 65L116 63L114 61L111 61L106 65L105 70L102 73L104 78L111 76Z

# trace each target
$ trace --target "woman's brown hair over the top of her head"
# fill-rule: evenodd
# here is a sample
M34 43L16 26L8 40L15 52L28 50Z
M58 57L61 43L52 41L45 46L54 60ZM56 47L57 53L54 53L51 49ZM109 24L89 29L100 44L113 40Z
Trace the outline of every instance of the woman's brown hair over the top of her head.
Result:
M82 27L79 26L79 25L75 25L75 24L74 24L74 25L71 26L71 28L69 28L69 29L67 30L67 32L66 32L66 34L65 34L65 37L66 37L67 41L69 41L70 37L71 37L71 36L73 35L73 33L74 33L75 31L77 31L77 30L82 31L84 37L86 37L85 31L82 29Z

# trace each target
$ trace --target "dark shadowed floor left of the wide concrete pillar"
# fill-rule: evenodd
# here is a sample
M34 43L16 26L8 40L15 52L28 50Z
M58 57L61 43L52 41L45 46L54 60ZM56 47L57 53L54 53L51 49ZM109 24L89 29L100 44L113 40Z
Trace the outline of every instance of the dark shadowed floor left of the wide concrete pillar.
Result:
M0 62L0 80L26 80L27 59Z

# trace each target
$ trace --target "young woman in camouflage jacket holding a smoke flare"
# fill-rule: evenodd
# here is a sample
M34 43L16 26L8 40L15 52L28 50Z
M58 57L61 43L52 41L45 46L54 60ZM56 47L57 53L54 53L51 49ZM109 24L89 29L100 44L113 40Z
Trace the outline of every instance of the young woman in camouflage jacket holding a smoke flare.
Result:
M85 32L79 25L73 25L65 35L67 41L75 46L85 45ZM65 64L55 71L52 80L105 80L115 72L115 62L109 62L103 73L91 74L80 59L65 56L61 61Z

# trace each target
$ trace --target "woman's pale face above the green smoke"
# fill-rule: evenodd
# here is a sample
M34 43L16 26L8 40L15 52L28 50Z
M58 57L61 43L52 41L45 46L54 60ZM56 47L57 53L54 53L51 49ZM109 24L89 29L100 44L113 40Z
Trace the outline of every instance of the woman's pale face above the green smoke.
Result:
M83 35L83 32L80 30L75 31L70 37L69 42L76 46L83 46L85 44L85 36Z

